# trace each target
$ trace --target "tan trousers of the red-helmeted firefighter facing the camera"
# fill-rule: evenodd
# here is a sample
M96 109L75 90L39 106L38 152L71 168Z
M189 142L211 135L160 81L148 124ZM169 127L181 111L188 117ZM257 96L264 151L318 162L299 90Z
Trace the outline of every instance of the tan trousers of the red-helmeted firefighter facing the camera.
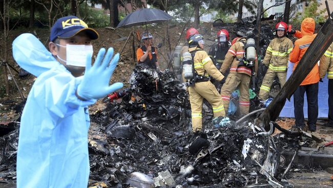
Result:
M260 101L264 101L268 98L270 86L272 86L276 76L279 78L281 88L285 84L287 78L287 72L275 72L274 70L268 68L260 86L260 91L258 96Z

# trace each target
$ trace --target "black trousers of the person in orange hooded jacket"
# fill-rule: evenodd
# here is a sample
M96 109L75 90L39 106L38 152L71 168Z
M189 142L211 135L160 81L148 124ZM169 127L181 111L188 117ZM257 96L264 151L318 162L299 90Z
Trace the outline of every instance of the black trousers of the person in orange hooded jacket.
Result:
M318 83L309 85L300 85L294 93L294 112L295 124L299 128L305 126L304 123L304 93L307 98L307 116L309 130L316 130L316 122L318 118Z

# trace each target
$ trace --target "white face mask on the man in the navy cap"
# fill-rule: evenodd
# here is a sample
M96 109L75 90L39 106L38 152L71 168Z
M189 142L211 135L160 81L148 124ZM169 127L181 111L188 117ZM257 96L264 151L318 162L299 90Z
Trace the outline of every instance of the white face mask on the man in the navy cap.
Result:
M57 45L66 48L66 61L57 55L61 61L66 62L66 65L86 67L87 55L94 52L92 45Z

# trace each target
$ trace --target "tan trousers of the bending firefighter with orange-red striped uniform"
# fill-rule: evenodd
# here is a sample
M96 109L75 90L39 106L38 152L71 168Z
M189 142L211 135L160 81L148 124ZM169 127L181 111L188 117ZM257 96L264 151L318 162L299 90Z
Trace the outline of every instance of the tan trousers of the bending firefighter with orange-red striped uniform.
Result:
M249 110L249 83L251 77L241 73L229 73L225 83L221 88L221 97L223 100L225 113L228 112L231 93L238 87L240 113L245 115Z

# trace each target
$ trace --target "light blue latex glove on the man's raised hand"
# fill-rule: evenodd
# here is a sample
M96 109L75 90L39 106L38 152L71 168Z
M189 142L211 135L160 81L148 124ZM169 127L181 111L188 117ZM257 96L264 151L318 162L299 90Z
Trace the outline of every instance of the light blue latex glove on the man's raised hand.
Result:
M99 50L93 66L91 66L92 54L87 56L85 75L77 87L78 98L85 100L100 99L122 88L123 84L120 82L109 85L110 78L119 60L119 54L117 53L112 58L113 48L110 48L106 55L105 51L104 48Z

